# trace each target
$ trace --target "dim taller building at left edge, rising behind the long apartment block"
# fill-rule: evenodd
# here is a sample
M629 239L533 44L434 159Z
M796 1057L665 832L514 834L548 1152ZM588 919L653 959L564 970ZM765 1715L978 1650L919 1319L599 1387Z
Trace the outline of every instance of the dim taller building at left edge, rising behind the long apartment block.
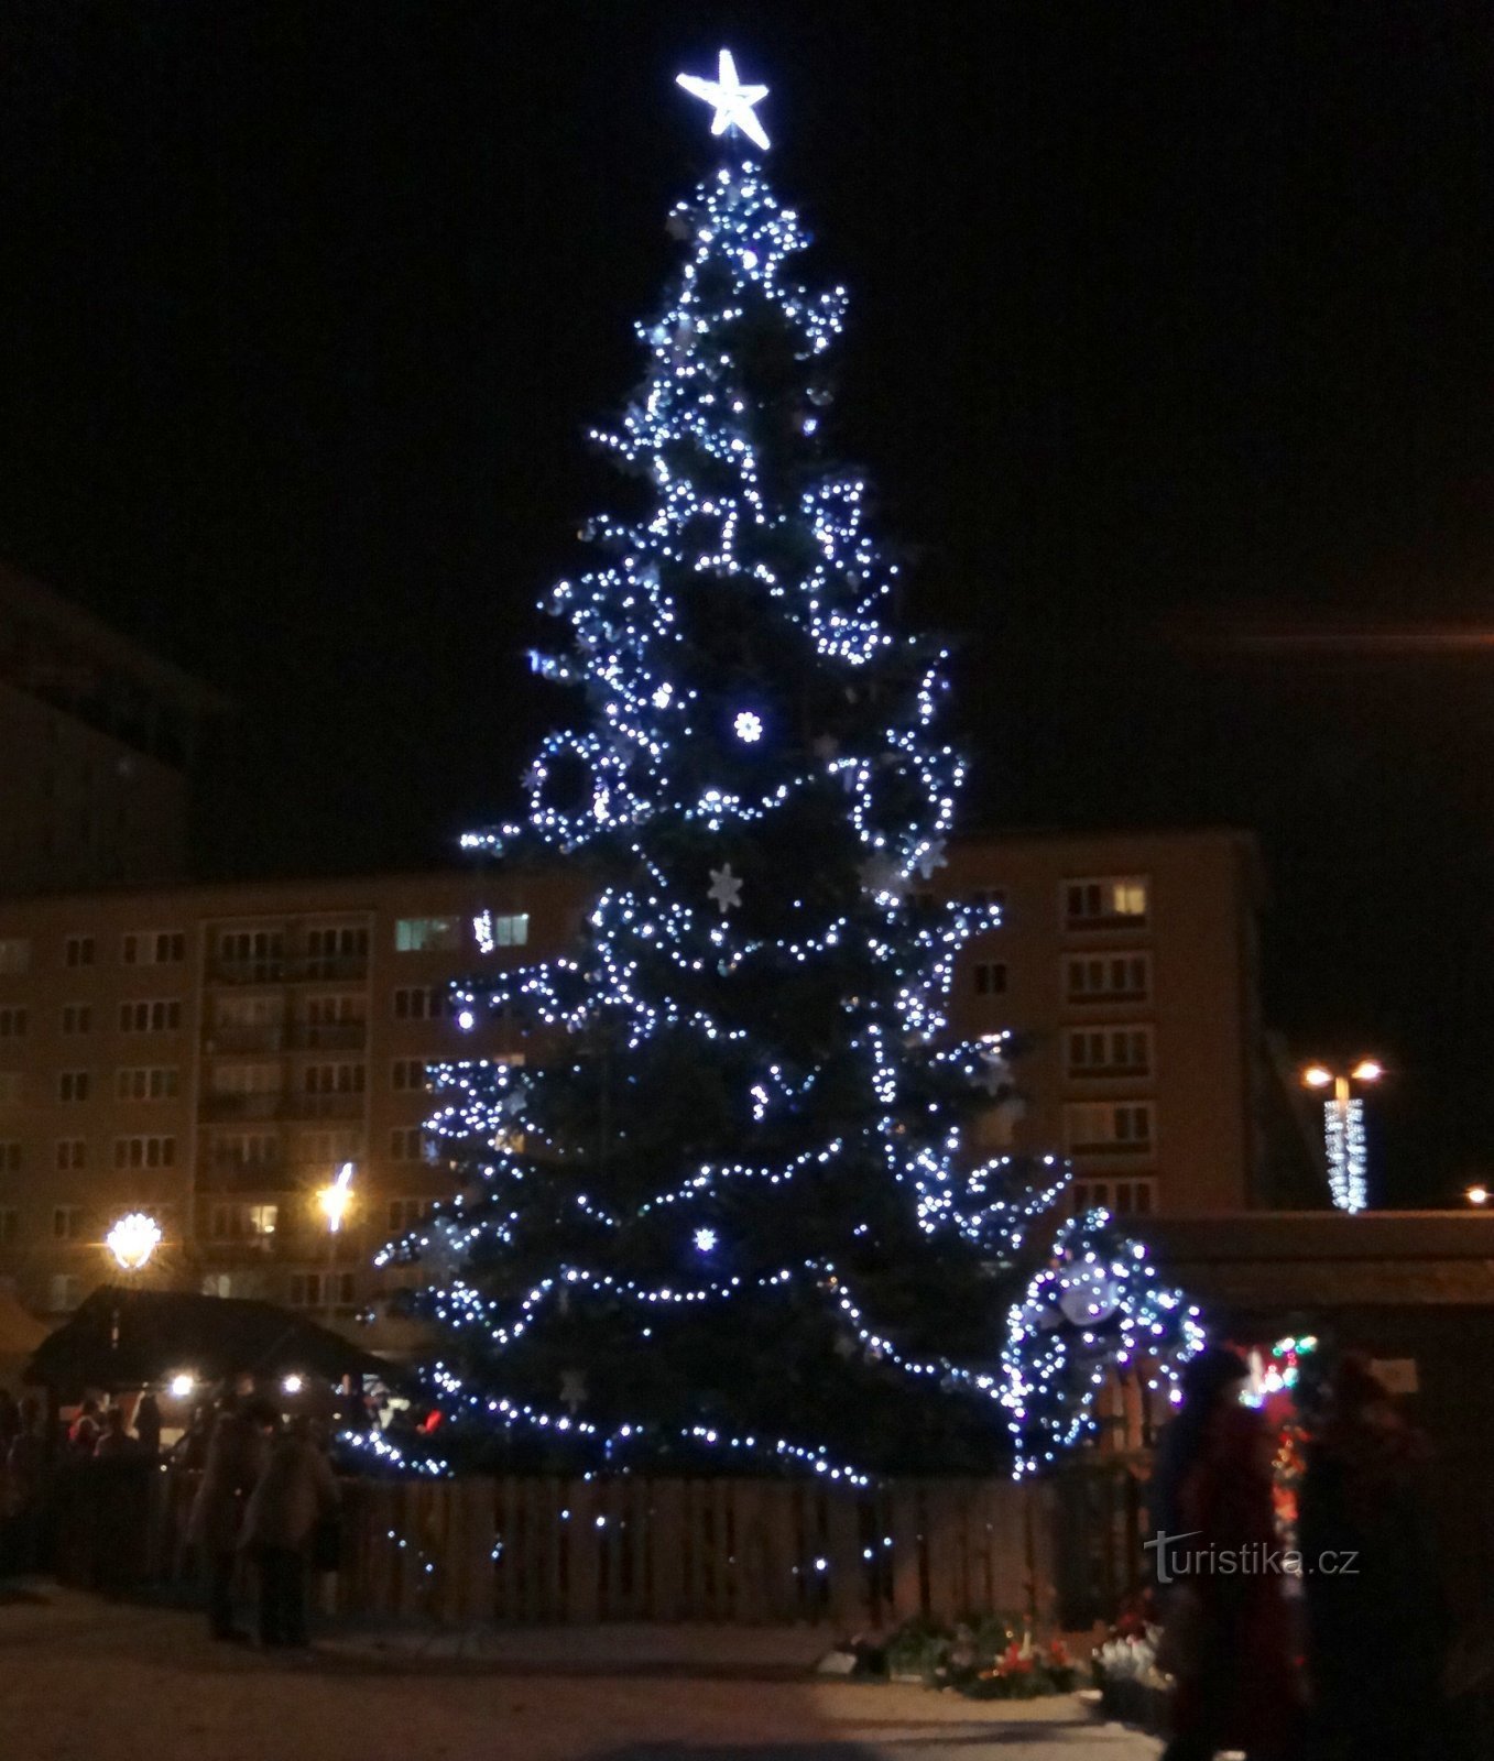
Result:
M187 868L187 780L226 701L0 567L0 891L162 882Z

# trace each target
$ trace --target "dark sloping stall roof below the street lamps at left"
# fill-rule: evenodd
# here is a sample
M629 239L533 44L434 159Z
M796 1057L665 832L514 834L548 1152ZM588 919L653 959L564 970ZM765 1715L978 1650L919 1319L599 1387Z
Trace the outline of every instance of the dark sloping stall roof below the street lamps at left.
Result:
M396 1379L384 1358L273 1303L106 1284L32 1354L25 1379L49 1388L143 1388L189 1372Z

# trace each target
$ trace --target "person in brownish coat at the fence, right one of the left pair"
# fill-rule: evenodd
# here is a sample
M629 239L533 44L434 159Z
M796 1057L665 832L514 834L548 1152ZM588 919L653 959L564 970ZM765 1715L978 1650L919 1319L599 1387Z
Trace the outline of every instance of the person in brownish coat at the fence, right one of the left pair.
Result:
M259 1571L261 1645L310 1643L307 1580L317 1523L337 1513L331 1463L296 1419L270 1448L270 1462L243 1520L240 1544Z

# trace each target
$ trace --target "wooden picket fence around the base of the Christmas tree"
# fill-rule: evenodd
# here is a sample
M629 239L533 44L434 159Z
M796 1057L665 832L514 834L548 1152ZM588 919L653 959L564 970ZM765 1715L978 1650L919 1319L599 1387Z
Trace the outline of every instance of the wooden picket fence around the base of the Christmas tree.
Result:
M97 1477L97 1488L92 1481ZM106 1483L107 1477L107 1483ZM196 1476L74 1479L58 1537L69 1581L194 1574ZM610 1620L810 1622L1055 1615L1047 1485L763 1479L344 1481L340 1615L442 1625Z

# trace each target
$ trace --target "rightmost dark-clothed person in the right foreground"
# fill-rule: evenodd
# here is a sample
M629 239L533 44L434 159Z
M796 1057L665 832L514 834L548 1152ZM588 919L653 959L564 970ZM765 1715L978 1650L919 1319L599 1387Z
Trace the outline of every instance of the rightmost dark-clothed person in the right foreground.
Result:
M1314 1724L1346 1761L1439 1756L1448 1617L1427 1514L1425 1437L1346 1356L1307 1446L1298 1546Z

